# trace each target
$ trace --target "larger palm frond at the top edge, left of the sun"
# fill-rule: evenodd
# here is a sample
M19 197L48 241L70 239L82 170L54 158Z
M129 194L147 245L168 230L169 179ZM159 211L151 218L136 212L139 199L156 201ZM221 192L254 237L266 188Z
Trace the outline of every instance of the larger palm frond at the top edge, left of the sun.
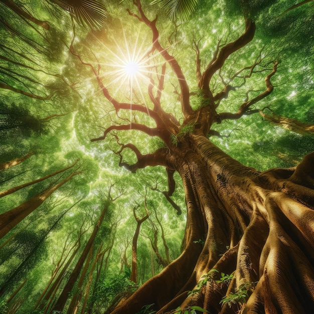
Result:
M109 16L107 8L97 0L50 0L70 13L80 25L98 30Z

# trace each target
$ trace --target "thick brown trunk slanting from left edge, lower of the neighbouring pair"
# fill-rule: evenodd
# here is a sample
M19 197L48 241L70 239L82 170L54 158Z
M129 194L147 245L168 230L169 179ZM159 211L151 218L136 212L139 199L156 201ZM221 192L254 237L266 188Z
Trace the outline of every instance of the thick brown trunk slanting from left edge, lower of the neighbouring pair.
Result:
M80 174L80 172L73 172L67 178L56 184L55 186L48 188L32 199L19 205L18 207L0 215L0 238L5 236L11 231L18 223L37 209L44 201L58 188L67 183L73 176Z

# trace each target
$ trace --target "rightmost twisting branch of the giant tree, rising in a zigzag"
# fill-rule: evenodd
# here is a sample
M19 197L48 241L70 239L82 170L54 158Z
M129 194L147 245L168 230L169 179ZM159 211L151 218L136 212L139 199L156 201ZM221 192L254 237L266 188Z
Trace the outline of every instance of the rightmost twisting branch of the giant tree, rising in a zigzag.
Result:
M272 90L273 90L273 85L270 82L270 78L276 73L278 64L279 64L279 62L275 61L271 73L269 73L265 77L266 90L264 92L260 93L258 96L252 98L251 100L245 101L240 106L239 110L236 113L231 113L231 112L222 112L222 113L220 113L219 116L220 116L221 120L225 120L225 119L236 120L236 119L239 119L240 117L242 117L242 115L246 111L248 111L250 109L250 106L252 106L256 102L258 102L261 99L263 99L266 96L268 96L272 92Z

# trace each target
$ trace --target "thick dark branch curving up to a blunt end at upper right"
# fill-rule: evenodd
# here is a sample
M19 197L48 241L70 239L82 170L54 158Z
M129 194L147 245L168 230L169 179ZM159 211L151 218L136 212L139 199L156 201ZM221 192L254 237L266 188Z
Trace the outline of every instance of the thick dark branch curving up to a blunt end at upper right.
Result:
M229 43L220 50L218 56L212 60L212 62L207 66L206 70L203 73L200 86L204 91L204 95L207 97L211 96L211 91L209 89L209 83L216 71L218 71L225 63L227 58L239 50L240 48L247 45L254 37L255 33L255 24L251 19L245 20L245 32L237 40L232 43Z

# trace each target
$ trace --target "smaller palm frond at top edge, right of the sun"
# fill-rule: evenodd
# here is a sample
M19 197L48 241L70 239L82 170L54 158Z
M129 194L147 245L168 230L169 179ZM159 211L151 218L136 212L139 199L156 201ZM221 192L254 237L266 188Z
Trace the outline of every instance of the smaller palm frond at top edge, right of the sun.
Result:
M161 4L172 20L178 17L186 21L195 11L198 0L153 0L150 4Z

